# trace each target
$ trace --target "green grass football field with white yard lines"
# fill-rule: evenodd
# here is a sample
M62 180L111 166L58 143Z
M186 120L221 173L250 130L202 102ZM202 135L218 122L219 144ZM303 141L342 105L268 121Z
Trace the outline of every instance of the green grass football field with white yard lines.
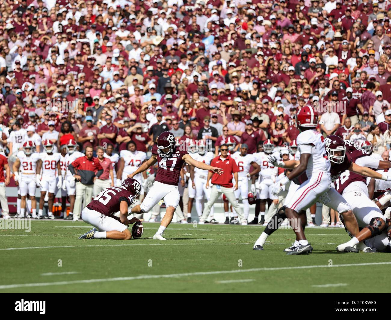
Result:
M391 256L339 254L344 229L306 229L314 252L287 256L290 229L252 250L263 227L181 225L152 240L78 240L84 222L33 221L31 232L0 230L0 293L5 292L389 292ZM58 266L61 260L62 266ZM330 267L332 264L333 267ZM376 286L368 280L376 276Z

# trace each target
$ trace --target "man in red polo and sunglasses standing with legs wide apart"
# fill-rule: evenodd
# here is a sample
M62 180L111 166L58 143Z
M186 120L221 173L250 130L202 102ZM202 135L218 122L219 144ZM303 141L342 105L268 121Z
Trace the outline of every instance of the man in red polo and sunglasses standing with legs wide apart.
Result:
M218 168L222 168L224 170L224 173L222 175L215 174L213 172L208 172L208 178L206 179L206 188L210 188L209 181L212 178L212 190L210 192L210 198L208 203L206 203L204 211L202 213L202 216L199 218L199 223L204 224L206 218L208 218L208 215L210 213L210 209L212 208L213 204L217 200L217 198L220 197L221 193L223 193L228 201L231 203L232 207L235 209L237 214L240 217L240 220L242 221L242 225L246 225L247 221L244 220L243 216L243 210L239 206L239 202L235 197L234 190L238 189L238 172L239 168L235 162L234 159L232 159L230 156L228 156L228 145L222 145L220 148L221 155L215 157L210 165L216 166ZM232 183L232 175L235 179L235 187ZM211 216L210 218L211 223L216 223L216 220ZM231 221L232 224L239 224L238 219L233 219Z

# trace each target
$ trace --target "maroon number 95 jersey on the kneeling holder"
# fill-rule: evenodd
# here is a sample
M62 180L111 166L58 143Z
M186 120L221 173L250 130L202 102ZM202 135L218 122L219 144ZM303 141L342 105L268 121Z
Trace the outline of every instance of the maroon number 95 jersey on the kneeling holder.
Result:
M130 206L133 202L133 195L126 189L110 187L102 190L87 207L102 213L102 215L110 216L112 213L120 211L121 201L126 201Z

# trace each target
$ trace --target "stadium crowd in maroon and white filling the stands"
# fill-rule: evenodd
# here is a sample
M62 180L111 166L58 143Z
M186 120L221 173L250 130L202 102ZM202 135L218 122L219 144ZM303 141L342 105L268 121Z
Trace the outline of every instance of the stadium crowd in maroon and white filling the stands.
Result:
M254 154L270 139L280 151L312 105L324 136L389 159L387 0L0 3L4 156L26 139L37 152L46 139L58 152L70 140L93 156L130 141L148 152L163 131L216 156L227 141Z

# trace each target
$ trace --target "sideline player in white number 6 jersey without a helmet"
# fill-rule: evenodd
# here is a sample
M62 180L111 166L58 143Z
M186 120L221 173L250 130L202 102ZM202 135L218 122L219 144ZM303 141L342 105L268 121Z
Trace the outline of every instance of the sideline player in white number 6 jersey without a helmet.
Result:
M239 180L239 188L234 191L236 199L239 201L239 197L242 196L242 204L243 204L243 215L244 221L242 221L242 225L248 224L248 215L250 213L250 205L248 203L248 180L253 179L251 183L251 193L255 194L255 175L260 172L261 168L255 161L255 156L253 154L247 154L248 145L246 143L242 143L240 146L240 151L235 152L231 157L235 160L239 172L238 172L238 180ZM254 170L250 172L251 167ZM209 200L209 199L208 199ZM232 208L232 210L235 210Z

